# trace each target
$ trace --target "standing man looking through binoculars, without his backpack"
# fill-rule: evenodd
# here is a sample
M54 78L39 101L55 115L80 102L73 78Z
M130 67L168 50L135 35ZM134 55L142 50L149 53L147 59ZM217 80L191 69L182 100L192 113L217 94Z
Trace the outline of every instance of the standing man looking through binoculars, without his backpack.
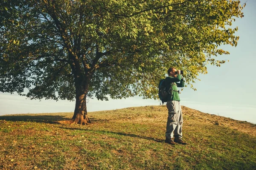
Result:
M184 81L181 79L180 70L175 68L168 69L169 77L165 79L166 90L172 85L172 95L168 96L166 107L168 108L168 119L166 125L166 140L168 144L186 144L182 138L182 111L180 106L180 96L178 87L184 87ZM180 83L178 83L180 82Z

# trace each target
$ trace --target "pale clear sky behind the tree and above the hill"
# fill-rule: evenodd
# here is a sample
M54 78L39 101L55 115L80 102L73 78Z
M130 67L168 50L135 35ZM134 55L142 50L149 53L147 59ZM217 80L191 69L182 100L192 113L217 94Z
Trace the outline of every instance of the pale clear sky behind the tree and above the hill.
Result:
M241 0L241 4L246 0ZM180 94L181 105L204 113L230 117L256 124L256 0L247 0L244 17L236 19L239 38L236 47L223 46L230 55L221 67L208 66L208 74L200 75L193 91L184 88ZM159 100L133 97L109 101L90 99L87 111L104 111L135 106L160 105ZM17 94L0 93L0 115L16 113L73 112L75 102L30 100ZM90 114L89 114L90 116Z

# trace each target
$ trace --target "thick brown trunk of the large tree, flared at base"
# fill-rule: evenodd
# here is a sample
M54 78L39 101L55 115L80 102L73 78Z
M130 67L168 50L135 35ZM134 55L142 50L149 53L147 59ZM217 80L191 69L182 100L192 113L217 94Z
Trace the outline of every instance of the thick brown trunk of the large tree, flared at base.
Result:
M71 124L88 125L90 119L87 116L86 96L88 92L88 85L81 85L76 88L76 108L72 118Z

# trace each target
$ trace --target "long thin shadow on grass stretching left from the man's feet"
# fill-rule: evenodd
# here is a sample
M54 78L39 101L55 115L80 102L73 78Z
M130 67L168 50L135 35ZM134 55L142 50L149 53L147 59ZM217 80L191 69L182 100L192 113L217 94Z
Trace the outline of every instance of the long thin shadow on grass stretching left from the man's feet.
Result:
M68 129L68 130L84 130L84 131L96 132L96 133L100 133L100 134L114 134L114 135L121 135L121 136L129 136L129 137L134 137L134 138L148 139L148 140L152 140L152 141L160 142L160 143L164 142L164 140L161 140L161 139L151 138L151 137L147 137L147 136L140 136L140 135L135 135L135 134L130 134L130 133L111 132L111 131L107 131L107 130L79 129L79 128L72 128L72 127L59 127L59 128Z

